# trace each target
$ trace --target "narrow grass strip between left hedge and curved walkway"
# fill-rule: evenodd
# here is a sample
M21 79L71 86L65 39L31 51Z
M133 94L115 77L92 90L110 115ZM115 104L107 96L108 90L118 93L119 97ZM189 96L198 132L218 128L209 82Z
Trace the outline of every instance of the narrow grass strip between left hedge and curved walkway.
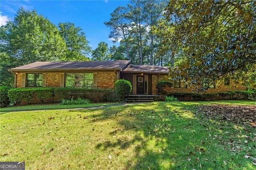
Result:
M41 104L41 105L24 105L24 106L11 106L0 108L0 112L17 112L17 111L34 111L34 110L52 110L52 109L74 109L74 108L86 108L86 107L99 107L106 105L115 105L117 103L90 103L86 105L59 105L54 104Z

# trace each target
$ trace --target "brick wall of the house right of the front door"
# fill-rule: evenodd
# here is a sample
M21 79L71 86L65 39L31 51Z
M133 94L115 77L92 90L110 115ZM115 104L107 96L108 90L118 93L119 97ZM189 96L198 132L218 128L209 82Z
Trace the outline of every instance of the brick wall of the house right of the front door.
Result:
M167 80L168 77L166 75L152 75L152 94L157 95L157 90L156 90L156 83L157 81L161 80ZM169 93L176 93L176 92L192 92L192 89L188 86L188 88L166 88L166 91ZM224 91L237 91L237 90L246 90L246 87L243 86L242 84L236 84L234 81L230 80L230 86L224 86L224 80L220 81L219 85L216 85L215 89L208 89L206 93L218 93L218 92L224 92Z

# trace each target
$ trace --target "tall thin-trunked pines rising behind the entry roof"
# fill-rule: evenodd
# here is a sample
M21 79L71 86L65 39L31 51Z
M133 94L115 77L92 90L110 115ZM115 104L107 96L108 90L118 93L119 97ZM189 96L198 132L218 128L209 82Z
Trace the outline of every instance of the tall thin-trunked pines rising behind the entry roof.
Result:
M134 64L157 64L154 55L158 45L152 27L161 18L161 1L131 0L125 7L118 7L111 13L109 37L120 42L120 49ZM149 57L150 56L150 57Z

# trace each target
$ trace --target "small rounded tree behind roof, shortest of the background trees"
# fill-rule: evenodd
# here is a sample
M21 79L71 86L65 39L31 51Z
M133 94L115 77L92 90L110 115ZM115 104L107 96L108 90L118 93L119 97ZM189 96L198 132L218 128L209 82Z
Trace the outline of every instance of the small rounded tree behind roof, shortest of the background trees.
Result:
M108 53L108 43L106 42L98 43L98 47L92 51L92 60L95 60L95 61L110 60L110 55Z

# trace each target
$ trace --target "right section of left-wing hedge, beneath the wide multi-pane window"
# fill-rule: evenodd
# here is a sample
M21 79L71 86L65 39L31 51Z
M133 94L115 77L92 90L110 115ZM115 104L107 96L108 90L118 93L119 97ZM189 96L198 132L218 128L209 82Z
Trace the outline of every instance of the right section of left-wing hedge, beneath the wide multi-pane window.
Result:
M114 102L117 101L113 89L82 89L74 87L59 87L54 89L54 97L59 99L89 99L92 102Z

